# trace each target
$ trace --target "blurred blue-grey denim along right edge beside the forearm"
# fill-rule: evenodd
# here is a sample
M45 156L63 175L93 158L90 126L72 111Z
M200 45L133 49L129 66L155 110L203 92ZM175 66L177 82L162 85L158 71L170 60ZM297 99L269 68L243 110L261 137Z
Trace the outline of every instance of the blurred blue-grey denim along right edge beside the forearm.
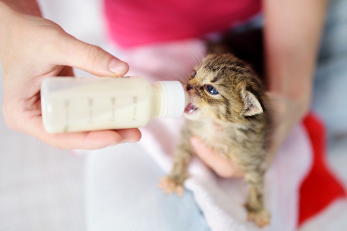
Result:
M332 0L322 37L312 109L330 139L347 135L347 0Z

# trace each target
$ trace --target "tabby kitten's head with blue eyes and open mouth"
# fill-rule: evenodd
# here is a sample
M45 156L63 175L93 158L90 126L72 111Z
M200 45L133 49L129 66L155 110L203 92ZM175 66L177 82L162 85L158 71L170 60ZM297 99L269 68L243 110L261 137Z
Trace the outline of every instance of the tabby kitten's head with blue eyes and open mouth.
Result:
M210 54L198 64L186 85L191 120L211 118L239 122L264 113L264 89L252 68L231 54Z

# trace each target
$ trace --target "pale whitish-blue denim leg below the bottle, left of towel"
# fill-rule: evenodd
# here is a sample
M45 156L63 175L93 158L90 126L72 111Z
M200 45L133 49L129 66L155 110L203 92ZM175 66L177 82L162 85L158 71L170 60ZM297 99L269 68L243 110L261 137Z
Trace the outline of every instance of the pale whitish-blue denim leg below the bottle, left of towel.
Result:
M159 188L165 173L139 144L92 151L86 169L88 231L210 231L190 191Z

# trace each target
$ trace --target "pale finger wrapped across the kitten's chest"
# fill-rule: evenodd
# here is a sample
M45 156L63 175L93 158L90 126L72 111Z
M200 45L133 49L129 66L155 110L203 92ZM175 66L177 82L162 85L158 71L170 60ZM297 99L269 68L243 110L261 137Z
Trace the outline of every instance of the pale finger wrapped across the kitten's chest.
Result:
M223 178L243 176L243 172L230 160L223 158L221 155L216 153L216 151L206 146L201 139L192 137L190 138L190 143L200 160L202 160L202 162L211 168L218 176Z

